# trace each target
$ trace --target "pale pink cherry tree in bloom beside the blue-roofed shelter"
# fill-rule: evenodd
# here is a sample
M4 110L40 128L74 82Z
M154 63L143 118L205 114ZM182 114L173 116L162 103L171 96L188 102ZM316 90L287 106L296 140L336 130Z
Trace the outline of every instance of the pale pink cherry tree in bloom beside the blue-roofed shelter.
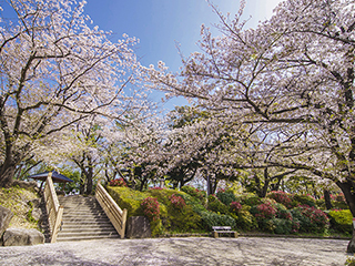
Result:
M125 88L140 79L132 51L138 40L124 35L112 42L110 32L90 24L84 3L3 6L17 18L0 18L1 186L23 160L61 140L63 130L90 116L123 120L134 103Z

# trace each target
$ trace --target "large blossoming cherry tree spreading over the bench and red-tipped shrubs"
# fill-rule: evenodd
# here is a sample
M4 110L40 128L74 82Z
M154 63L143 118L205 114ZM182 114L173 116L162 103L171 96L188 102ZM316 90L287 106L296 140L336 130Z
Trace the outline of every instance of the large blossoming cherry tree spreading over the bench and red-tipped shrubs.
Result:
M222 35L203 25L181 73L146 70L154 86L274 134L261 166L335 183L355 216L354 1L286 0L256 29L244 29L243 4L234 18L212 7Z

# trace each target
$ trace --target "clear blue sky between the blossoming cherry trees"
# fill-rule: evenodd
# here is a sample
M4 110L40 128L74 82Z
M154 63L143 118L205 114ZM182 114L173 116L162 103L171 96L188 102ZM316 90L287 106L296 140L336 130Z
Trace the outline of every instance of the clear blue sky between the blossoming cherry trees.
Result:
M213 28L219 22L217 16L205 0L87 0L85 13L93 24L102 30L110 30L121 38L123 33L140 39L136 54L143 65L162 60L172 70L181 66L175 42L187 57L199 50L201 24ZM272 16L272 10L282 0L247 0L244 17L251 18L247 27L255 28L257 22ZM240 0L212 0L223 13L235 14ZM217 32L215 32L217 33ZM154 93L154 100L163 96ZM186 104L184 100L170 100L165 109Z

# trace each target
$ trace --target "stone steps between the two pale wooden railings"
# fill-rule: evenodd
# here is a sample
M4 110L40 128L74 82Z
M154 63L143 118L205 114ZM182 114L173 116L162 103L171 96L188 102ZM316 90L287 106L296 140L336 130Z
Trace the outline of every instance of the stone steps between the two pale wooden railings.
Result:
M59 196L64 206L58 242L119 238L120 235L93 196Z

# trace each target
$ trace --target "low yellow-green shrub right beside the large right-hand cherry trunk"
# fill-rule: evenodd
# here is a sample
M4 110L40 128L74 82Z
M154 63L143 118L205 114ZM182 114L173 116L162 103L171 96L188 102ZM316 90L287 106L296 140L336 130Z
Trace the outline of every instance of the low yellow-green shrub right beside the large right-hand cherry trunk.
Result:
M353 215L349 209L334 209L328 213L331 226L334 231L352 234Z

